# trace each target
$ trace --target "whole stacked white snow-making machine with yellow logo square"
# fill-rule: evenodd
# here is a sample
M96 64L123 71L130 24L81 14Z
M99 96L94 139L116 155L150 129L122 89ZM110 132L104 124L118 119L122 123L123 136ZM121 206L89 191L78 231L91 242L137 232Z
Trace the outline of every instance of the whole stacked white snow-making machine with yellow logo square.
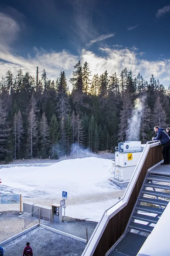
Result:
M121 183L130 181L143 147L144 145L141 145L140 141L118 143L118 147L115 147L115 180Z

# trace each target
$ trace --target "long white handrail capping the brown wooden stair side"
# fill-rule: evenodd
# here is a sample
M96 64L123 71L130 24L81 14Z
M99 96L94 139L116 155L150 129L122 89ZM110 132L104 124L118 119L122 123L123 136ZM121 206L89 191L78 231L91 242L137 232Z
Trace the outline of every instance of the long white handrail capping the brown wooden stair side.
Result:
M83 254L82 254L81 256L84 256L84 255L85 255L85 252L87 251L87 248L89 247L91 240L94 238L94 235L96 234L96 231L97 231L97 229L98 229L98 226L99 226L100 223L102 222L102 219L103 219L104 215L105 215L105 214L107 215L107 211L108 211L109 209L111 209L112 207L114 207L115 205L117 205L120 201L122 201L122 200L125 198L125 195L126 195L126 193L127 193L127 191L128 191L128 188L129 188L129 186L130 186L130 184L131 184L131 182L132 182L132 178L134 177L135 172L136 172L136 170L137 170L137 168L138 168L138 165L139 165L139 163L140 163L140 161L141 161L141 158L142 158L142 156L144 155L144 152L145 152L145 150L146 150L146 146L147 146L148 144L152 144L152 143L155 143L155 142L159 142L159 140L151 140L151 141L148 141L148 142L146 143L145 148L144 148L143 151L142 151L142 154L141 154L141 156L140 156L140 159L139 159L139 161L138 161L138 163L137 163L137 165L136 165L136 168L135 168L135 170L134 170L134 172L133 172L133 174L132 174L132 177L131 177L131 179L130 179L130 182L129 182L129 184L128 184L128 187L126 188L126 191L125 191L123 197L120 198L117 202L115 202L112 206L110 206L109 208L107 208L106 210L104 210L104 213L102 214L102 217L101 217L100 221L98 222L98 224L97 224L97 226L96 226L96 228L95 228L93 234L91 235L91 238L89 239L89 242L88 242L88 244L86 245L86 247L85 247L85 249L84 249L84 251L83 251Z

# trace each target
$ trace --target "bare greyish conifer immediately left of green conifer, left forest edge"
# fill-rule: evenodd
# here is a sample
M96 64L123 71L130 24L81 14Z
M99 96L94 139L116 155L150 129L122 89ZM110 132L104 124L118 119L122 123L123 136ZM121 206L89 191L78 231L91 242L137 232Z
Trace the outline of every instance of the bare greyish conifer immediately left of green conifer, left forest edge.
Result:
M42 114L42 118L40 121L40 138L41 153L43 157L46 157L47 151L49 149L49 125L47 123L45 112Z

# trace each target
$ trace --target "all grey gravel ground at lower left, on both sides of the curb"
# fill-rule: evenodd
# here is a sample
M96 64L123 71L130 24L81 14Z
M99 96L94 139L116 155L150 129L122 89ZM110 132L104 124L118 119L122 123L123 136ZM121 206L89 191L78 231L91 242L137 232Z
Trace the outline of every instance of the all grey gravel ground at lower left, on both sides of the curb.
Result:
M25 230L22 229L24 227L24 219L18 216L19 212L17 211L2 212L0 214L0 242ZM27 228L37 223L38 220L35 220ZM71 218L67 218L65 223L53 223L45 220L40 220L40 223L83 239L86 239L87 228L88 240L97 225L97 222ZM5 244L3 246L4 256L22 256L27 241L30 242L35 256L80 256L86 246L84 242L39 227Z

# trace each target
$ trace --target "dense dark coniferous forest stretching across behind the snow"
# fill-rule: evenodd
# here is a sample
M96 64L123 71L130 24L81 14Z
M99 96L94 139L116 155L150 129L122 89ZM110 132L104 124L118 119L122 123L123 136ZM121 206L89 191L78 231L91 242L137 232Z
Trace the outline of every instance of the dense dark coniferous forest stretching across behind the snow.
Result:
M153 75L146 81L124 68L92 76L88 63L79 61L69 81L72 91L64 71L56 81L45 70L35 77L7 71L0 81L0 160L56 159L81 148L113 153L118 142L128 140L134 101L143 96L142 143L151 140L155 125L170 124L170 86L165 89Z

